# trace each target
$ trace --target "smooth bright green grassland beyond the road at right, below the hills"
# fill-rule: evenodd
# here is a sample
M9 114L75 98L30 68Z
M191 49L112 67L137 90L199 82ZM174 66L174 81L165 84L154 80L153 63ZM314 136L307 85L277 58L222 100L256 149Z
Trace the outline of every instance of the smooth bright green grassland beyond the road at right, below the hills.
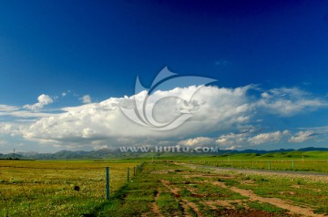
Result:
M174 160L226 168L328 172L328 151L318 150L218 155L187 155L178 153L164 153L159 155L147 153L138 156L138 159L142 161Z

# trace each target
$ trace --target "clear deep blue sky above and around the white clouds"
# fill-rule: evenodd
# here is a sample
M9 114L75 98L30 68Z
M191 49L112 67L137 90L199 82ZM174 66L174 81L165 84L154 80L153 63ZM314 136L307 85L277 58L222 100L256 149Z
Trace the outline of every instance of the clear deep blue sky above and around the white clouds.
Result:
M261 119L261 127L255 126L259 135L289 130L289 137L296 138L302 136L300 131L312 132L312 140L292 143L292 148L326 147L327 38L324 0L0 1L0 104L3 112L5 106L22 110L44 94L53 102L44 104L43 112L60 113L65 107L82 105L84 96L90 99L85 102L96 103L132 96L137 77L150 87L159 71L169 67L180 76L217 79L213 85L219 88L257 85L262 92L275 88L306 92L291 100L317 100L318 108L304 109L298 116L258 111L258 117L245 125L255 126ZM17 116L3 115L0 121L3 126L16 125ZM69 148L27 140L26 131L13 136L17 129L3 128L0 152L13 143L22 144L22 150L46 151L40 148L43 145L51 151ZM237 130L195 133L195 137L217 140ZM181 134L165 140L190 138ZM282 148L287 140L269 140L271 145L253 148Z

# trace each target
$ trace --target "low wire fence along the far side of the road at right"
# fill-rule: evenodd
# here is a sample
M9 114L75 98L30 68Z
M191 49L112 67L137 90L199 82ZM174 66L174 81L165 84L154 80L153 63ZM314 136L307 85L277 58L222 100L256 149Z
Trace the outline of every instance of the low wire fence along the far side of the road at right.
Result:
M190 163L255 170L328 172L328 160L200 160L190 161Z

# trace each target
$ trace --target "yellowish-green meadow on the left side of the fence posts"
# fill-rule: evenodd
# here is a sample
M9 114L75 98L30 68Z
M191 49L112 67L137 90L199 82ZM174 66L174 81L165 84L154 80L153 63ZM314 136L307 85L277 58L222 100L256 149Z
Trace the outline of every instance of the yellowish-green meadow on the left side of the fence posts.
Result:
M106 202L107 187L108 196L118 191L136 175L132 171L137 167L136 162L1 161L0 216L81 216L93 212Z

